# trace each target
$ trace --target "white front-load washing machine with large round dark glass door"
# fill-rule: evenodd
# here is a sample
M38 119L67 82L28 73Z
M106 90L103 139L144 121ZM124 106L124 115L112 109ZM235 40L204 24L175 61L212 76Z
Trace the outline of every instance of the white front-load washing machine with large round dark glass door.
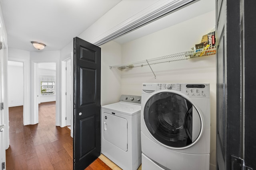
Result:
M208 170L210 85L144 83L142 170Z

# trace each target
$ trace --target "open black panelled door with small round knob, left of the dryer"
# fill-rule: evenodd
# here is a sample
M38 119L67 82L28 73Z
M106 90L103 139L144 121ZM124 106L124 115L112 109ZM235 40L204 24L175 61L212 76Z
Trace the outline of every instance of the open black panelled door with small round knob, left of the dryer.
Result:
M100 47L74 38L74 170L100 155Z

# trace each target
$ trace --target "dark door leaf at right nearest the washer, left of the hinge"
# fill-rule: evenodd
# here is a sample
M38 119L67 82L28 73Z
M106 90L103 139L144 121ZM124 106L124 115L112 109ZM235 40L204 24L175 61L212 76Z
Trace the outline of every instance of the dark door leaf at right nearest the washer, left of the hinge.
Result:
M240 157L242 148L239 0L228 1L216 0L217 170L231 170L231 155Z

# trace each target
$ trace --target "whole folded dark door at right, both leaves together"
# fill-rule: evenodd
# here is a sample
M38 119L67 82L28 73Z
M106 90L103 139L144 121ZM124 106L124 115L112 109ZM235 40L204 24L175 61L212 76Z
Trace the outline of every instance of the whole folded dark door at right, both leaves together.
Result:
M217 170L256 168L255 5L216 0Z

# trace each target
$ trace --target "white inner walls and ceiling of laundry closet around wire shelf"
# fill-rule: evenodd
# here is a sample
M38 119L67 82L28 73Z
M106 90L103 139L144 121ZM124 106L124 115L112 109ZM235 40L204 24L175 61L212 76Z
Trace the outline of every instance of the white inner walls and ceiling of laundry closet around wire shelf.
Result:
M152 64L156 79L148 65L130 63L191 51L203 35L215 31L214 3L197 1L100 46L102 106L118 102L122 94L141 96L143 83L210 84L210 169L216 168L216 55Z

